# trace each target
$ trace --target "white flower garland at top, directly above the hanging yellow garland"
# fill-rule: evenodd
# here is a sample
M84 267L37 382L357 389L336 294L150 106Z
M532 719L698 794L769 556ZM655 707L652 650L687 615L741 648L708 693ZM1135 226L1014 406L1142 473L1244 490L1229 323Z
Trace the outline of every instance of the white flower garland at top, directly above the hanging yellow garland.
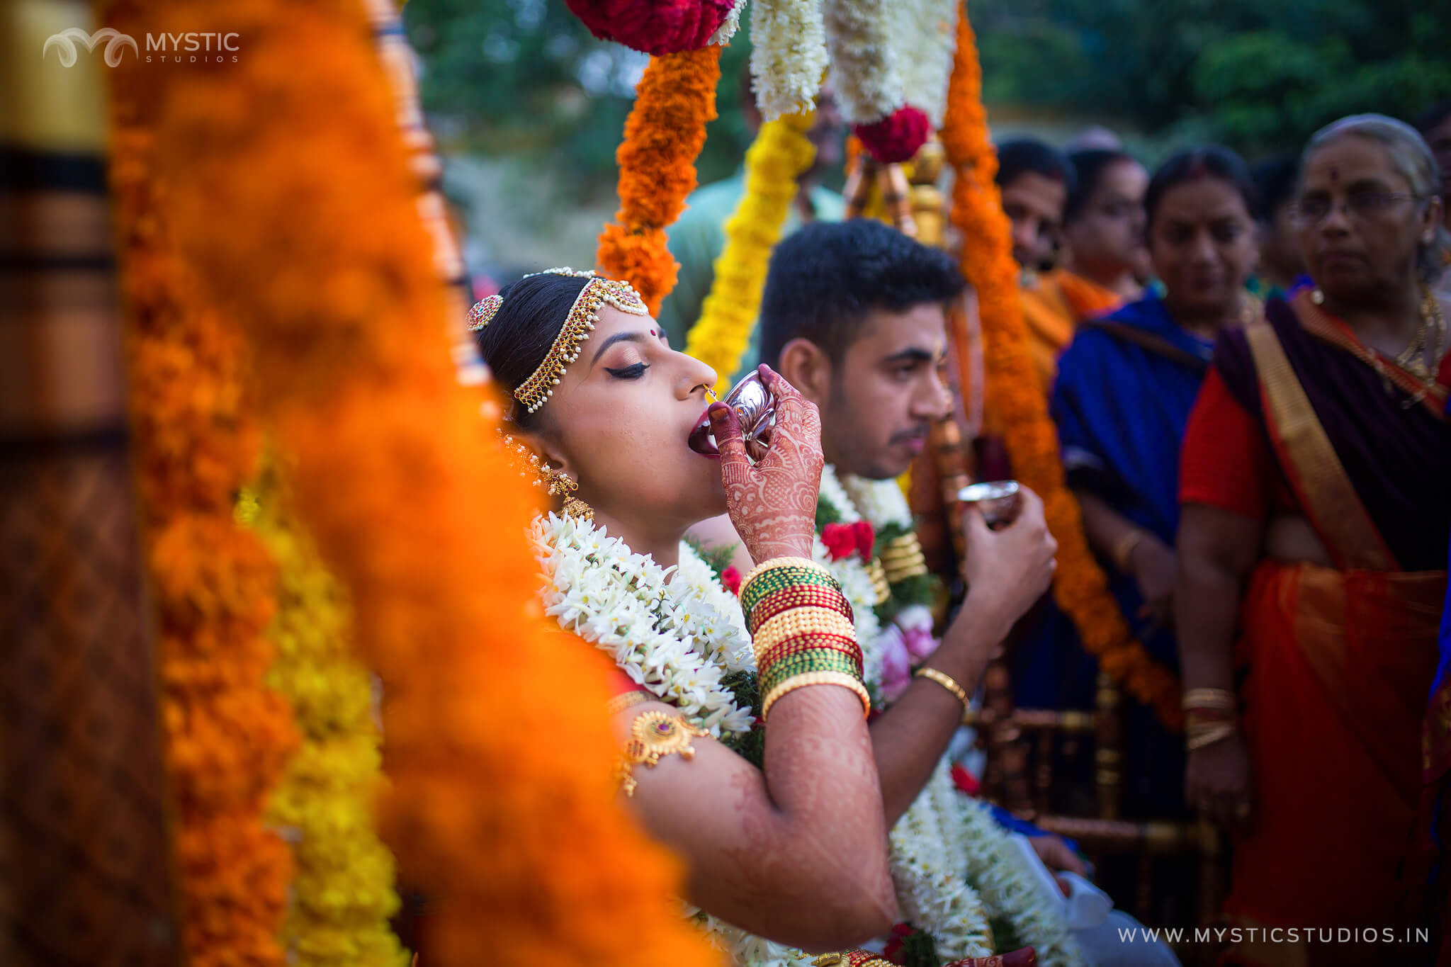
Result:
M827 68L820 0L756 0L750 41L752 90L762 120L810 110Z

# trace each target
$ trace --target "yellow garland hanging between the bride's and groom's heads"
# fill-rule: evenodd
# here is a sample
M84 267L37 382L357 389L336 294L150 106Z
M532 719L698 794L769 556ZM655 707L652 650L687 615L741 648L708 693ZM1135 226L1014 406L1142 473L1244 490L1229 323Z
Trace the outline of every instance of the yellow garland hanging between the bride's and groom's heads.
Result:
M685 345L689 355L715 370L717 393L730 387L750 345L770 252L797 197L797 175L815 159L815 145L807 138L814 117L807 112L768 120L746 151L746 190L726 222L715 281Z

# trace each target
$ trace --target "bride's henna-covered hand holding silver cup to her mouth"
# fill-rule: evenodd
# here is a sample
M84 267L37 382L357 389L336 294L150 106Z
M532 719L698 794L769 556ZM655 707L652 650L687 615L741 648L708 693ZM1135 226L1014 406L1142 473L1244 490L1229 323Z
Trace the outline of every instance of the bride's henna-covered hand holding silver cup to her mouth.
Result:
M770 449L755 467L746 457L740 419L724 403L710 409L721 452L721 480L731 523L753 561L811 557L817 490L821 486L821 415L769 367L760 367L776 397Z

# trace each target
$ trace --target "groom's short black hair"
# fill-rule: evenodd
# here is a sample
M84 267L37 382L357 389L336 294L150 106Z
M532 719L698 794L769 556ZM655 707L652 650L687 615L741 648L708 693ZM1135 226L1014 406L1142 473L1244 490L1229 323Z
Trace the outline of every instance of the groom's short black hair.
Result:
M792 339L840 362L874 309L946 303L966 287L952 258L874 219L814 222L770 255L760 300L760 360L775 367Z

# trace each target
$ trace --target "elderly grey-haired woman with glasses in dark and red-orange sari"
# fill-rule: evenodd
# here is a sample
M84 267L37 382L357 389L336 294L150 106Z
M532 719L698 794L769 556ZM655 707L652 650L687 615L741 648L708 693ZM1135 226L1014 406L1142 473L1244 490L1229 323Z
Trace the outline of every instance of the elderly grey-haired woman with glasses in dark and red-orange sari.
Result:
M1296 202L1313 286L1220 335L1185 433L1185 794L1238 826L1226 912L1242 924L1402 941L1425 922L1418 750L1451 534L1439 188L1400 122L1316 133ZM1451 744L1429 738L1444 770ZM1264 954L1396 960L1386 942L1238 957Z

